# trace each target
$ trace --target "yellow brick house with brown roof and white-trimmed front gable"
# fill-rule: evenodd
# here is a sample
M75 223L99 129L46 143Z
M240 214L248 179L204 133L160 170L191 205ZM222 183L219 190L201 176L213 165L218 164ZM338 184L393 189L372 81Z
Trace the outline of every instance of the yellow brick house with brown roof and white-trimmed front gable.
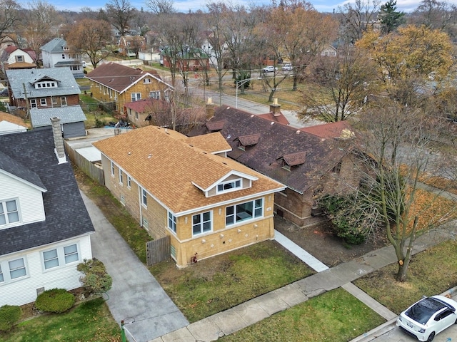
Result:
M113 62L97 66L86 78L91 81L94 98L111 103L111 109L118 112L130 102L148 98L168 100L169 92L174 90L156 71L143 71Z

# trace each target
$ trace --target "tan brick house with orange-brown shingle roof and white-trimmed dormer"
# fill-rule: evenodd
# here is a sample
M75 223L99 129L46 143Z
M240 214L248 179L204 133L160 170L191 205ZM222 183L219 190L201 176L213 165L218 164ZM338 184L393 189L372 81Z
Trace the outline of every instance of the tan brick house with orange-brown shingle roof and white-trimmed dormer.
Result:
M147 126L94 146L106 187L151 237L171 237L177 266L274 237L274 195L285 187L227 158L220 133Z

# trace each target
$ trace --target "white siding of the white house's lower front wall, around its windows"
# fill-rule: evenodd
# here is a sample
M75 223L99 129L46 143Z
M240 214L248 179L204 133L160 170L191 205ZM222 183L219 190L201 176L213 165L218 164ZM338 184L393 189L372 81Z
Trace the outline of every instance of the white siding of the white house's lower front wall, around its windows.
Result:
M41 260L41 252L70 244L78 244L79 261L69 264L69 266L59 266L55 269L44 271ZM91 259L91 239L89 235L77 239L66 240L59 244L52 244L39 249L26 252L9 254L0 257L0 261L18 259L26 257L27 276L23 279L11 281L9 284L0 284L0 306L24 305L36 299L37 289L76 289L81 287L79 277L81 273L76 270L76 266L84 259ZM5 295L6 294L6 295Z

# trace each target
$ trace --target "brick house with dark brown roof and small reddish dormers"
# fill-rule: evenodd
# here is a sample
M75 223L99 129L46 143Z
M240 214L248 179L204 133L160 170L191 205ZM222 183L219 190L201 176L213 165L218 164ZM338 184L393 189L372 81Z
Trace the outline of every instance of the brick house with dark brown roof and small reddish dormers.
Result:
M220 132L231 145L229 157L286 185L275 196L275 212L300 227L313 222L318 197L358 186L361 172L346 149L353 134L342 134L346 123L338 124L340 133L338 125L322 125L316 135L261 116L218 107L189 136Z

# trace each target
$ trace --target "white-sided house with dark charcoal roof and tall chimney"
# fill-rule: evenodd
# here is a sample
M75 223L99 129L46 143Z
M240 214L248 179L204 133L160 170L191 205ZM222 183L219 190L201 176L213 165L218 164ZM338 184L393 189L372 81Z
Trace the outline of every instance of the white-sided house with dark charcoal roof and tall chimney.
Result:
M0 306L81 286L76 266L92 257L94 226L58 121L54 129L0 135L0 208Z

